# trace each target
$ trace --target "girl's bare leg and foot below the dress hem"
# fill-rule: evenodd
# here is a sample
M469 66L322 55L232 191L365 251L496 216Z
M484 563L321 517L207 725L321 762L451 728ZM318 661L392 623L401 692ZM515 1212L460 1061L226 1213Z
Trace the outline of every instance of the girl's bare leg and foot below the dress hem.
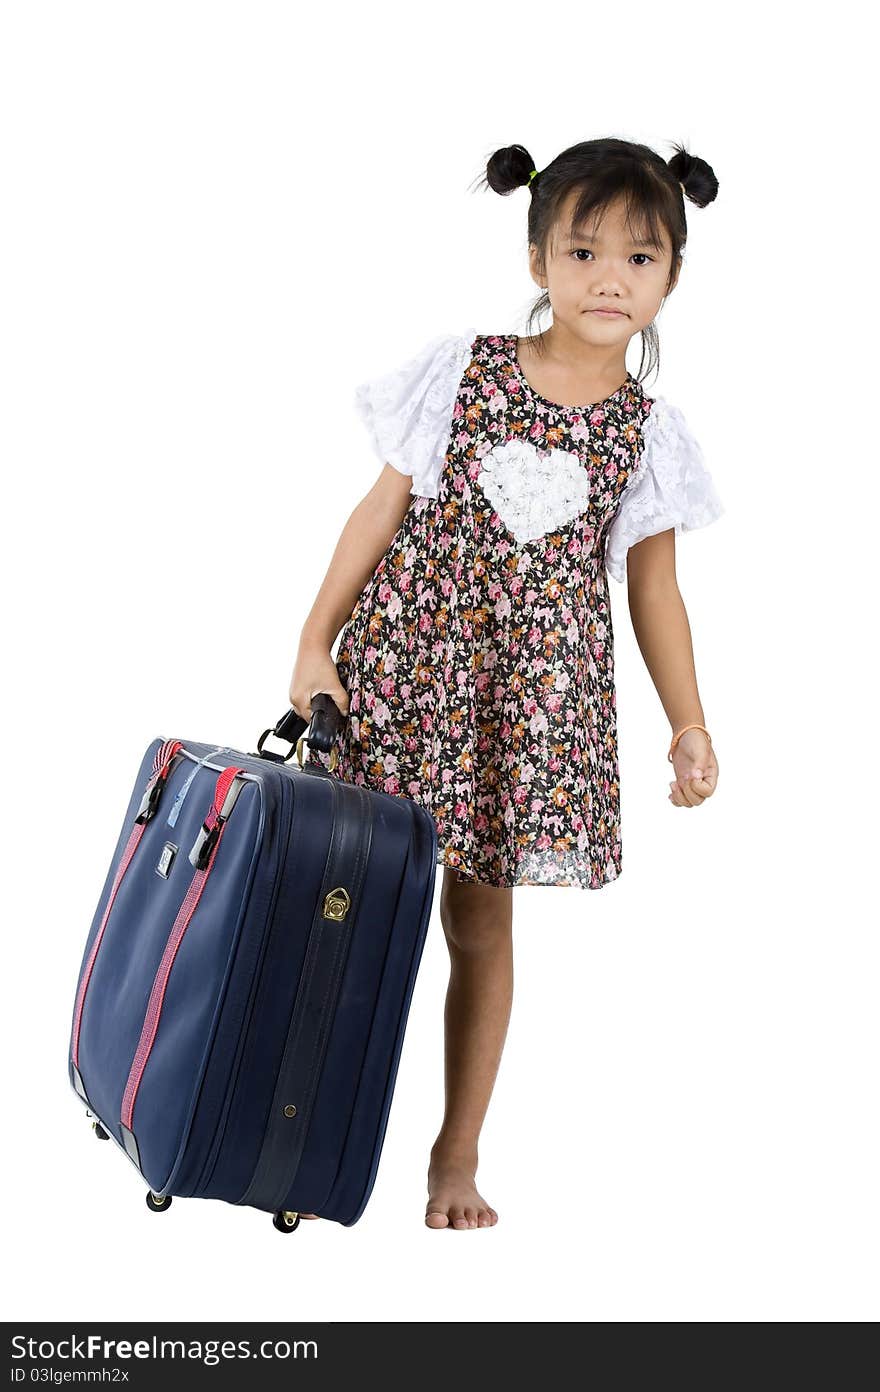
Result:
M446 1111L427 1169L429 1228L490 1228L478 1193L478 1141L501 1061L514 994L512 889L444 867L440 922L450 951Z

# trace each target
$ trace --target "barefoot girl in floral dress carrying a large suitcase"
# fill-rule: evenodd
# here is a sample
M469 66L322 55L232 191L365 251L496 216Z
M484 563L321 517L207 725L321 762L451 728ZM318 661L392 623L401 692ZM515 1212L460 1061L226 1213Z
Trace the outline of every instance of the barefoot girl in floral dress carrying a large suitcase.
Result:
M336 773L421 800L444 866L446 1112L430 1153L430 1228L482 1228L478 1140L512 999L521 884L600 889L621 873L608 572L671 727L670 800L696 807L718 764L698 695L675 533L721 501L681 411L647 397L654 320L675 288L686 195L717 193L675 146L585 141L537 170L497 150L485 182L529 193L542 333L432 340L358 388L383 469L345 523L290 686L311 720L349 715ZM642 334L639 376L627 348ZM340 633L338 657L330 649ZM329 768L330 756L309 748ZM304 1217L315 1217L304 1214Z

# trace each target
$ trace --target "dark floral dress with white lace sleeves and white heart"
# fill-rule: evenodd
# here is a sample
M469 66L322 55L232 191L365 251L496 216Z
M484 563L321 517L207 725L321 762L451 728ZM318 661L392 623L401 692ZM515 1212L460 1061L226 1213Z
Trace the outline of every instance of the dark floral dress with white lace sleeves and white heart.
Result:
M724 509L678 408L632 373L558 405L517 341L447 334L356 390L414 500L338 638L334 771L427 807L461 878L600 889L621 873L607 575Z

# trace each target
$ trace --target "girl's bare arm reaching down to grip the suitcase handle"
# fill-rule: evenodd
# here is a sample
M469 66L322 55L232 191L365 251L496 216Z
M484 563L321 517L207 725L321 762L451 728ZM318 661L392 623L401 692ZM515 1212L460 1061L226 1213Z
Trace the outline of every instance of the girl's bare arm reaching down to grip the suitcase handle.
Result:
M358 594L388 548L412 503L412 477L383 465L370 491L343 528L330 567L302 625L290 682L290 703L304 720L312 718L312 696L327 692L344 715L348 692L330 656Z

